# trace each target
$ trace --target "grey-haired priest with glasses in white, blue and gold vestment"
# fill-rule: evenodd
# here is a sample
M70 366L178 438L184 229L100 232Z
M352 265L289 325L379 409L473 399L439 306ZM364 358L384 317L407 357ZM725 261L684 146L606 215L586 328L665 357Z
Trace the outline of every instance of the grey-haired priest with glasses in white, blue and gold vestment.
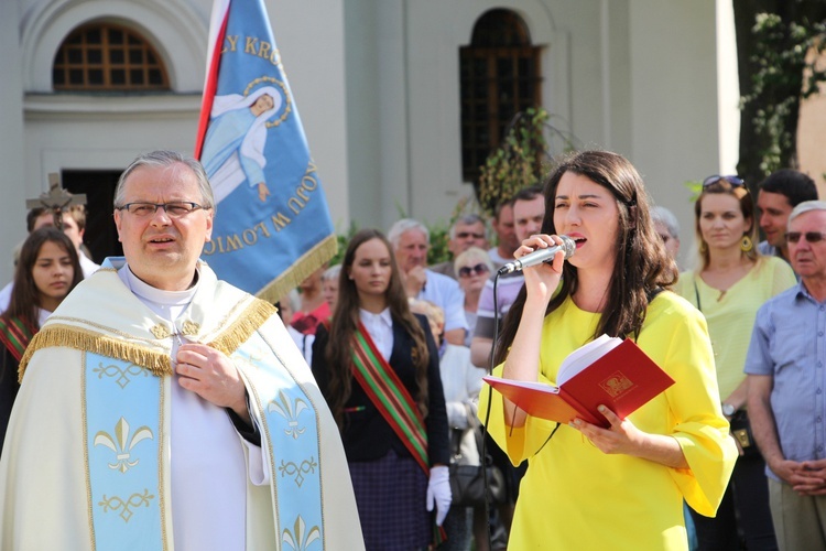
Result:
M275 310L198 257L215 212L174 152L121 175L108 259L21 360L0 549L363 549L339 432Z

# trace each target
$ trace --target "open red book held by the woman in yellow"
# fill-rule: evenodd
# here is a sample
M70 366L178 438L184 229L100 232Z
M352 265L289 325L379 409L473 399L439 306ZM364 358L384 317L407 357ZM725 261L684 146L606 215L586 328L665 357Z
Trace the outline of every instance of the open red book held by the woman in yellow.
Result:
M533 417L569 423L576 418L608 428L599 404L621 419L674 385L660 366L627 338L599 338L570 353L559 366L558 386L487 376L502 396Z

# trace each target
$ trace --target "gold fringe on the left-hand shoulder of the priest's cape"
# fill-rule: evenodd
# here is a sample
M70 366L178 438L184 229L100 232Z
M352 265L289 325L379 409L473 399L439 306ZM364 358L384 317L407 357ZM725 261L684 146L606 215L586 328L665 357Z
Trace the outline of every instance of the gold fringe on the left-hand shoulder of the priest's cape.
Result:
M20 358L18 381L23 381L25 368L35 352L42 348L53 348L58 346L65 346L80 352L90 352L109 358L129 361L149 369L152 375L157 377L172 375L172 363L170 360L169 352L155 352L145 346L131 344L122 338L105 336L72 325L54 324L46 325L34 335L34 338L32 338L23 357Z

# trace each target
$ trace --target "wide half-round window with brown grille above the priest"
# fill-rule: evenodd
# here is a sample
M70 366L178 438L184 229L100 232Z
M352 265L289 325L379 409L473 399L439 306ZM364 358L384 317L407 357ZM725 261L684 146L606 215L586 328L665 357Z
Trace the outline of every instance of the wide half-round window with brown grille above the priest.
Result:
M74 30L52 66L55 90L169 90L166 68L140 34L112 23Z

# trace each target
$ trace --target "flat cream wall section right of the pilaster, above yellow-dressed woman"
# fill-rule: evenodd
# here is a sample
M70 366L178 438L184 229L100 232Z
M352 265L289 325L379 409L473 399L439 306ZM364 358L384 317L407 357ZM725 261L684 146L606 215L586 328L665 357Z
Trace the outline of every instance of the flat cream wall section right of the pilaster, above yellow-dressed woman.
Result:
M717 174L715 2L630 0L631 161L657 204L677 216L681 257L692 257L686 181Z

